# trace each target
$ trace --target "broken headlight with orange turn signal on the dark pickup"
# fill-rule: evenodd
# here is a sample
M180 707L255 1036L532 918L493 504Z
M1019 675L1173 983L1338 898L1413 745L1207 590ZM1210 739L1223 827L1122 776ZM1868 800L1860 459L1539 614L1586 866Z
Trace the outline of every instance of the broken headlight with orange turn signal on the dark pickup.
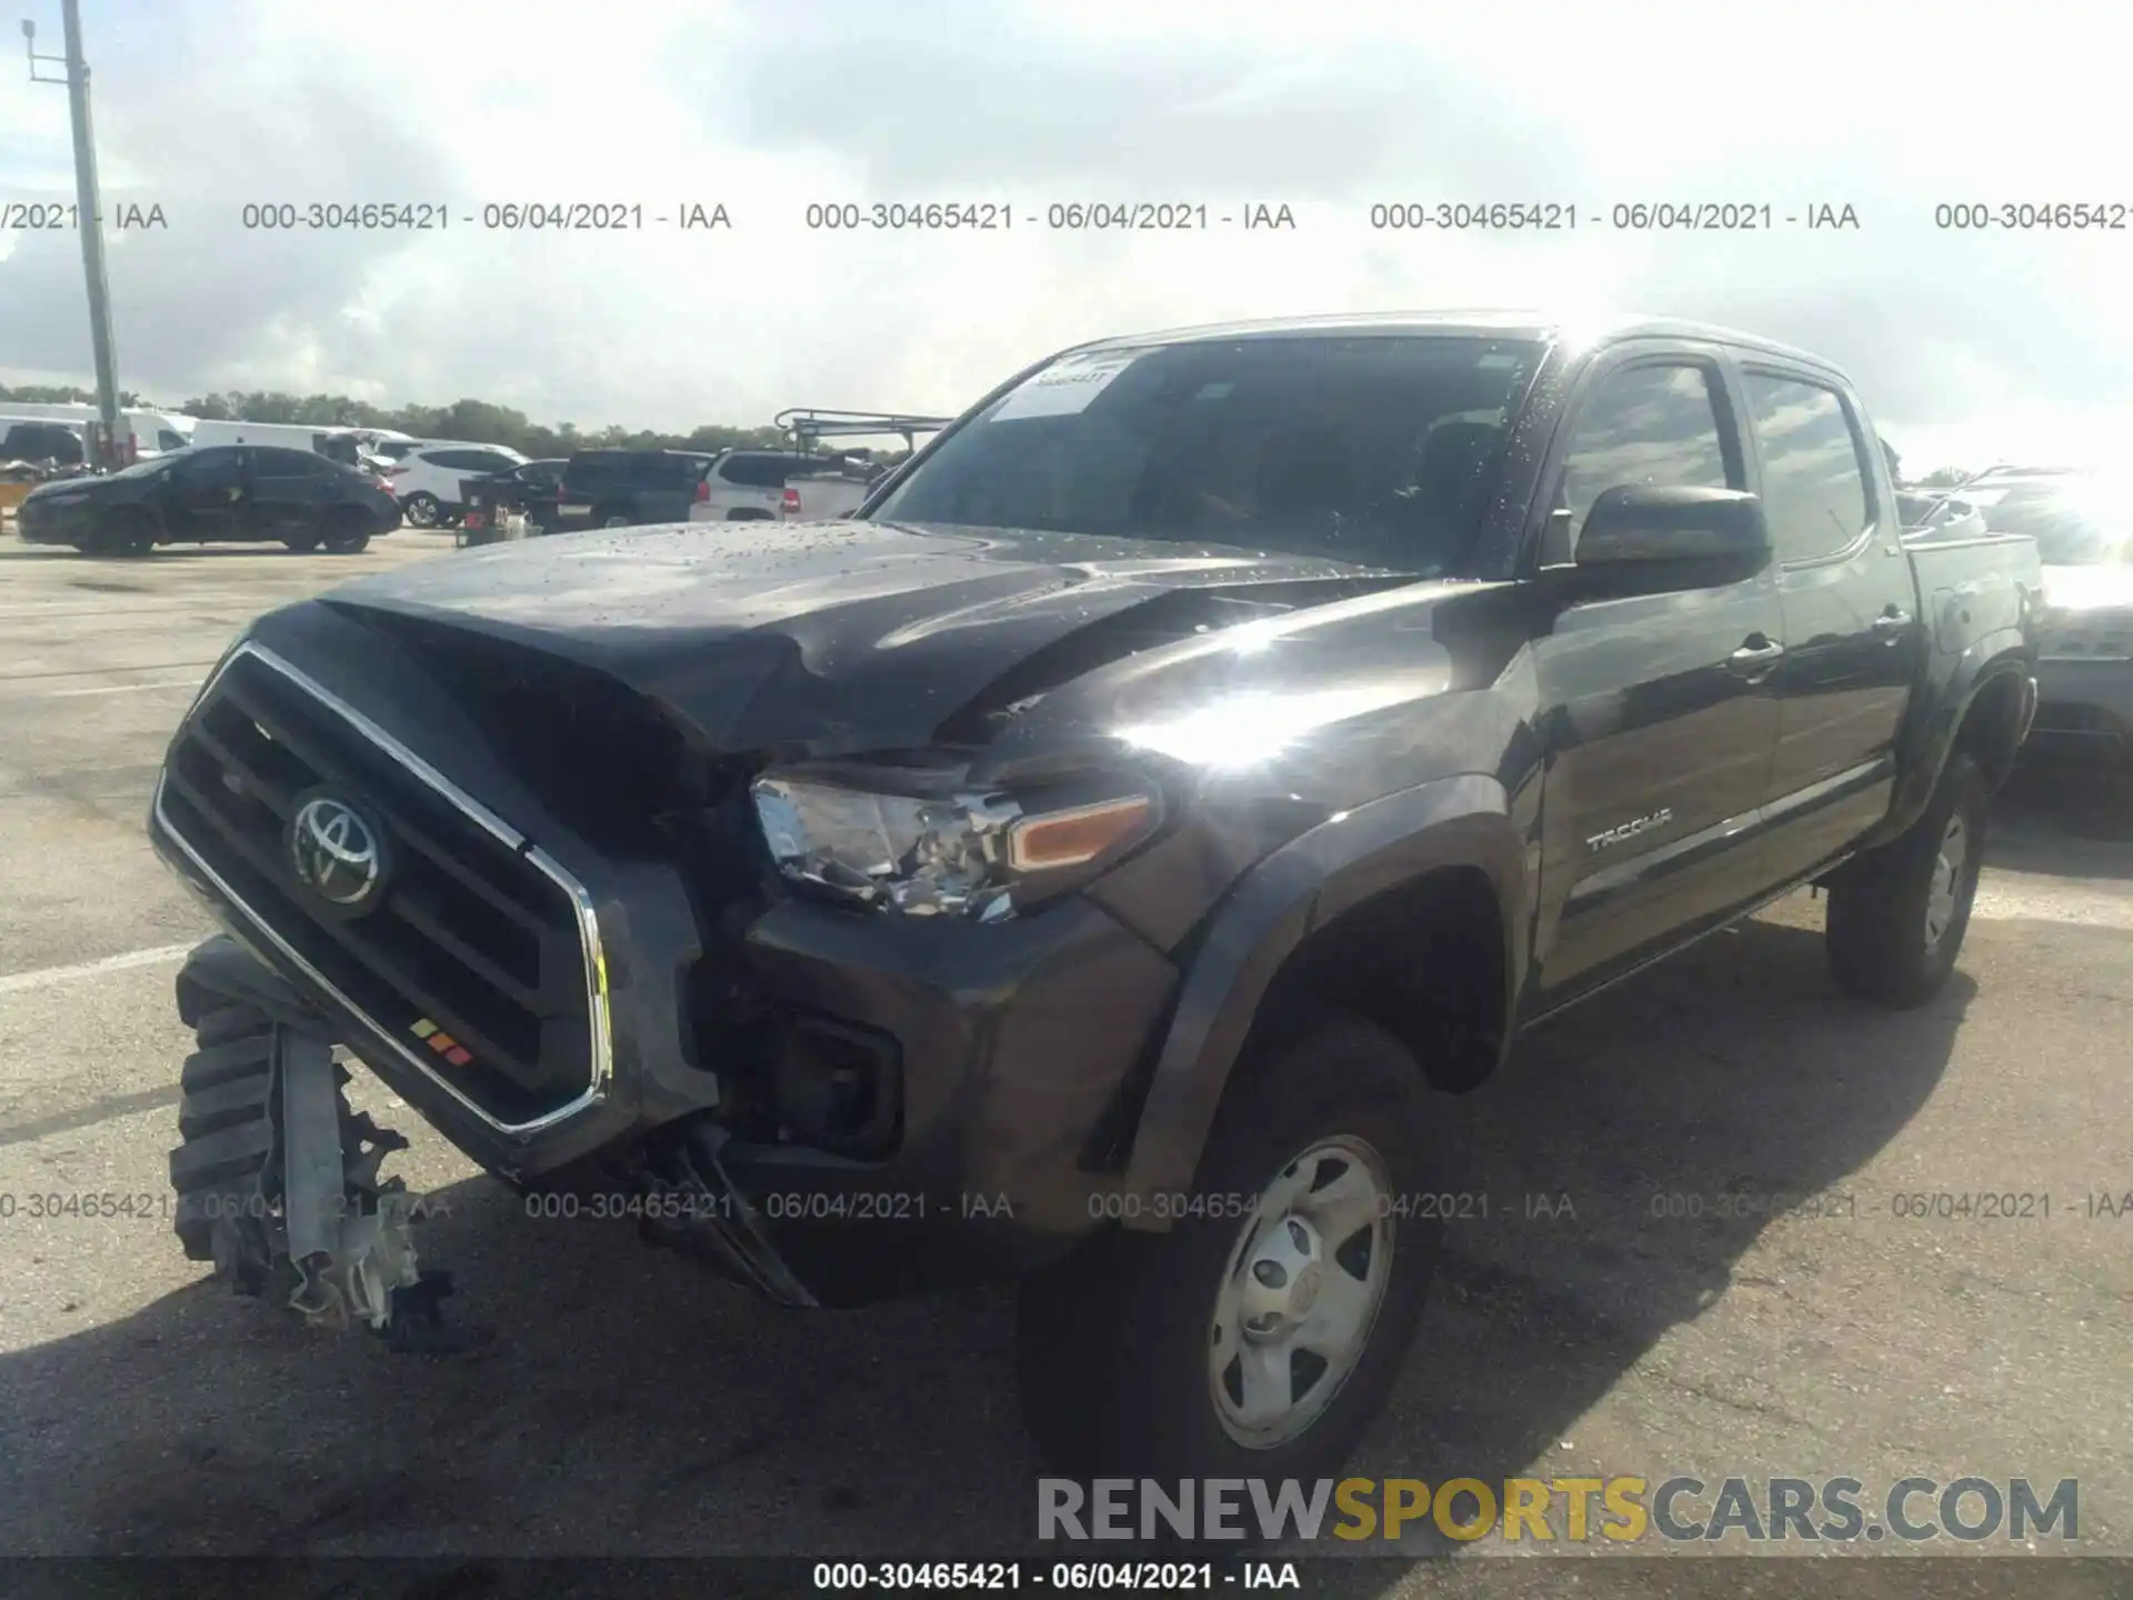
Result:
M785 879L881 911L979 922L1101 868L1160 819L1152 787L1037 798L968 791L915 768L766 772L753 800Z

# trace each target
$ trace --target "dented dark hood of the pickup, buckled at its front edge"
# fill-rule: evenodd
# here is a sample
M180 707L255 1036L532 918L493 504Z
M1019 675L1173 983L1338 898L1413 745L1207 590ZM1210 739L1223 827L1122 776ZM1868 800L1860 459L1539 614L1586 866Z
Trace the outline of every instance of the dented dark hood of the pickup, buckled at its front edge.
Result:
M1404 582L1156 540L727 523L497 544L360 578L320 604L418 638L448 689L452 640L482 636L604 672L712 749L849 753L921 747L981 713L1003 681L1026 689L1039 659L1052 663L1039 678L1066 681L1143 646Z

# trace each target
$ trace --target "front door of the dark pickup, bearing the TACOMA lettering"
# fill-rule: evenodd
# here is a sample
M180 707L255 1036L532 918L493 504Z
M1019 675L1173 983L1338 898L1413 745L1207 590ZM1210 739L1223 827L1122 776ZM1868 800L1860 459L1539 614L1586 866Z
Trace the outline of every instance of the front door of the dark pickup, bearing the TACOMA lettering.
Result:
M1634 341L1578 380L1551 446L1542 565L1576 561L1619 484L1747 489L1721 354ZM1553 1009L1751 905L1777 745L1777 574L1568 604L1534 642L1544 745L1538 1009Z

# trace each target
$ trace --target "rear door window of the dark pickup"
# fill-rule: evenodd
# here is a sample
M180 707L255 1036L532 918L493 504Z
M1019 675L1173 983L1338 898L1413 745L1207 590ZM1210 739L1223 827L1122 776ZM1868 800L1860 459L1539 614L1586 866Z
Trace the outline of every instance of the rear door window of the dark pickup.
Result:
M1762 514L1779 561L1815 561L1873 521L1866 463L1837 390L1747 373L1749 422L1762 448Z

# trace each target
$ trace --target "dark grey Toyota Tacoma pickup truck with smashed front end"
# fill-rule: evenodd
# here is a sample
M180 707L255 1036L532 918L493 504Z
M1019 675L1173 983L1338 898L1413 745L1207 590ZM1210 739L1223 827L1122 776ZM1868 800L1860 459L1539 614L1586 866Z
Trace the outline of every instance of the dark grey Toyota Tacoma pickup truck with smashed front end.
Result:
M787 1306L1017 1278L1062 1470L1331 1474L1423 1312L1438 1097L1809 883L1843 990L1947 977L2039 563L1898 535L1824 361L1384 316L1069 350L855 521L269 612L149 817L228 930L179 1239L452 1331L352 1058Z

